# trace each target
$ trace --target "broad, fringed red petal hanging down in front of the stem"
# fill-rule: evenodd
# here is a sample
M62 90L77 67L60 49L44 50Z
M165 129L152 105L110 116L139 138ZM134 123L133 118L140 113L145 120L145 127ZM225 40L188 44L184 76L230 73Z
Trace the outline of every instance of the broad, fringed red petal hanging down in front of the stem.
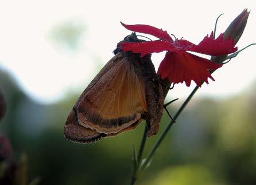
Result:
M208 70L215 70L221 66L221 64L216 64L191 53L167 52L157 73L163 79L168 77L169 81L174 84L185 81L186 85L189 86L193 80L196 85L201 86L201 81L208 84L208 78L214 80Z

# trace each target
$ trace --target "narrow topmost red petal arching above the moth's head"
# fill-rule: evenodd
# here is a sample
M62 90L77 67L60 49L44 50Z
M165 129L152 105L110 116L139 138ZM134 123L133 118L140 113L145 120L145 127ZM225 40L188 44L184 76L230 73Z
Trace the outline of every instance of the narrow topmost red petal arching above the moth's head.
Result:
M126 25L125 23L122 23L122 22L121 24L123 25L123 27L133 32L150 34L152 36L160 38L161 40L172 41L172 38L169 36L169 34L166 31L163 31L162 29L158 29L157 27L149 26L149 25Z

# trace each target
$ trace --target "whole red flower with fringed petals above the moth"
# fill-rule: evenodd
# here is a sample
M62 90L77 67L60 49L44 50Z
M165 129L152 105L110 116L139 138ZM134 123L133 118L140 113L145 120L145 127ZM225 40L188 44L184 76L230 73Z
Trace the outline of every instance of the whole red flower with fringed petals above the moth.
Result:
M210 37L207 35L198 45L195 45L183 39L175 38L173 40L166 31L153 26L125 25L124 23L122 25L133 32L150 34L160 39L157 41L125 42L120 45L123 51L140 53L141 57L150 53L167 51L157 73L161 75L162 79L168 77L169 81L174 84L185 81L186 85L189 86L191 80L195 81L198 86L201 86L201 81L208 84L208 78L214 80L209 70L215 70L222 66L222 64L216 64L186 51L220 56L234 53L237 50L234 48L234 40L230 38L223 40L223 33L214 40L212 32Z

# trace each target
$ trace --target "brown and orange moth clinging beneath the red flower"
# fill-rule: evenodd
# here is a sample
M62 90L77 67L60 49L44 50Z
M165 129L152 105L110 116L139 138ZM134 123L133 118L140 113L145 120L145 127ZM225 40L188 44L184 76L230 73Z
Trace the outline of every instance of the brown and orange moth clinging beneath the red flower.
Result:
M142 42L135 33L121 42ZM164 95L151 54L114 50L115 56L87 86L64 126L68 140L94 143L137 127L146 120L148 137L158 132Z

